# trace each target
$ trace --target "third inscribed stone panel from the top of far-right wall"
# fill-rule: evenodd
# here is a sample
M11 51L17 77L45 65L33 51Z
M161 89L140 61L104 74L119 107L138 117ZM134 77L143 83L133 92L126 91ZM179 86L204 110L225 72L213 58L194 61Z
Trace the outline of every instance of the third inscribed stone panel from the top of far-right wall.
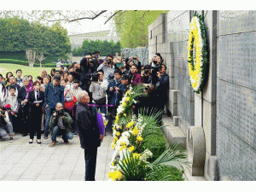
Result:
M256 121L256 91L218 80L218 120L253 148Z

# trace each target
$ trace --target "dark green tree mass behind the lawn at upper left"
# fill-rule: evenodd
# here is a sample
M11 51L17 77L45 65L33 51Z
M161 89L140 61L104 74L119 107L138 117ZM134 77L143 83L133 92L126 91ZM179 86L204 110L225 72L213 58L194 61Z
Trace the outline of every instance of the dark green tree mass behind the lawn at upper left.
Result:
M8 58L13 53L24 53L32 49L43 53L53 61L57 57L67 58L71 51L71 44L67 36L67 29L60 22L52 26L44 26L39 22L14 18L0 19L0 52L2 58ZM6 56L4 56L6 55ZM25 57L24 57L25 58ZM15 58L15 54L10 59ZM49 60L48 60L49 61Z

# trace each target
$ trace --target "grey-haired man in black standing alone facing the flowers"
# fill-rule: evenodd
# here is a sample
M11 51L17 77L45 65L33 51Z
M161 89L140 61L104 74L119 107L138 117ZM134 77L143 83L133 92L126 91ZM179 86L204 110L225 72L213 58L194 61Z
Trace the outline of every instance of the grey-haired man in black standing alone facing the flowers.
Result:
M90 97L85 90L78 96L76 121L79 127L81 148L84 148L85 181L95 181L97 148L101 145L103 136L100 135L96 117L88 106Z

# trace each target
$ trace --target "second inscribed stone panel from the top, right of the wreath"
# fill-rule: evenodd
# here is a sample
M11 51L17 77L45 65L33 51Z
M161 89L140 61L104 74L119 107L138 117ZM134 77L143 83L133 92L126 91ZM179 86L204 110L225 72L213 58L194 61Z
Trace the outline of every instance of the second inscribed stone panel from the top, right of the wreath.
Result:
M231 83L256 90L256 32L218 38L218 75Z

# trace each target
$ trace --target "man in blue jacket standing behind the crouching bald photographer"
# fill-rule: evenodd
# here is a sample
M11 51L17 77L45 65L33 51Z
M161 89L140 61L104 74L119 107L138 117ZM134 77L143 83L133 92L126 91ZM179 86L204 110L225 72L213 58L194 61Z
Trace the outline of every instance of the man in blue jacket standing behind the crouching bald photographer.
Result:
M52 83L48 84L44 90L44 106L46 108L46 118L44 126L44 138L48 139L49 135L49 119L55 111L58 102L64 104L64 87L61 85L61 76L55 75Z

